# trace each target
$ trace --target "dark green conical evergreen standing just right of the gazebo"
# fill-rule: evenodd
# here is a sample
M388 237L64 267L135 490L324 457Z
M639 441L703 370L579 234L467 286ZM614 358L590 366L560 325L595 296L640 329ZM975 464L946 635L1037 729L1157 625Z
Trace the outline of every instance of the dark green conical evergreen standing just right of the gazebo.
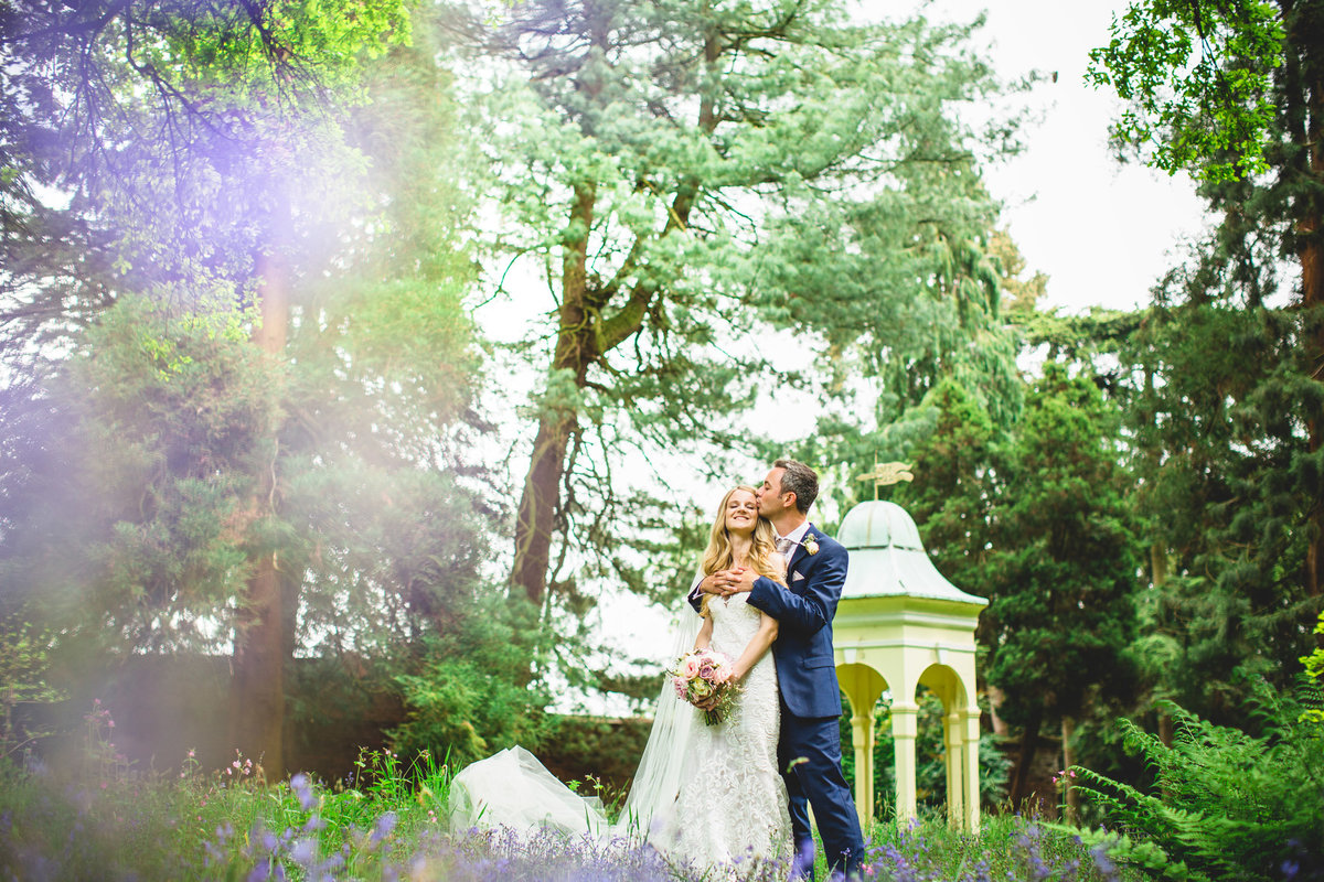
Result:
M1116 424L1088 377L1049 362L1005 455L980 643L998 713L1023 733L1013 801L1027 796L1042 722L1061 722L1071 766L1076 721L1133 685L1136 537Z

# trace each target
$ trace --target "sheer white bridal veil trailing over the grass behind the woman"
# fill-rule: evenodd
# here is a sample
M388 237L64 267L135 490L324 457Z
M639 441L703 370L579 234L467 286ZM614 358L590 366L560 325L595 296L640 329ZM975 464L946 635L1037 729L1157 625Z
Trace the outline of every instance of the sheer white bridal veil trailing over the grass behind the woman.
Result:
M694 647L698 625L688 604L671 619L670 664ZM666 850L678 832L675 800L686 770L695 758L699 711L677 698L662 677L643 756L625 797L620 820L609 825L596 797L565 787L523 747L511 747L465 767L450 783L453 829L510 826L518 830L552 826L571 834L646 840Z

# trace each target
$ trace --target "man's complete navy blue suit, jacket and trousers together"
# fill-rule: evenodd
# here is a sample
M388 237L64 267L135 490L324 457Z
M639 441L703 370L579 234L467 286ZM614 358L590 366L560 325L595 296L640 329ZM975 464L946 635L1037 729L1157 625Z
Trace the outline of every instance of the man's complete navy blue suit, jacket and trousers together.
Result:
M805 550L813 536L816 554ZM859 816L841 771L841 688L831 647L831 620L846 582L846 549L813 524L786 562L786 587L757 578L749 606L777 620L772 644L781 693L777 763L790 796L797 866L813 871L813 805L828 866L854 874L865 856ZM698 599L691 594L691 602ZM808 858L808 866L804 861Z

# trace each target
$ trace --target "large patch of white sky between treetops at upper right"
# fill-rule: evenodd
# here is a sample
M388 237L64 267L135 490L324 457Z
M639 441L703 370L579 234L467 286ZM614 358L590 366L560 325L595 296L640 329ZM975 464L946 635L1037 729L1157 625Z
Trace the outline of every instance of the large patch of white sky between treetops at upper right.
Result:
M1108 42L1112 13L1127 0L933 0L931 21L988 22L976 37L1005 79L1029 70L1058 73L1030 93L1043 122L1027 149L988 169L1004 225L1031 271L1049 275L1049 305L1129 308L1148 301L1155 280L1184 241L1200 234L1204 213L1189 179L1119 165L1107 148L1117 102L1083 82L1088 52Z

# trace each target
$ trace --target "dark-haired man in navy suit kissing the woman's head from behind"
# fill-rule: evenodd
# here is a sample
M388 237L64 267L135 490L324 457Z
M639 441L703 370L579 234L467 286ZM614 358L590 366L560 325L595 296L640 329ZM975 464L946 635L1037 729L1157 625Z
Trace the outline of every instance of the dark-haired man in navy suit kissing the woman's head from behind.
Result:
M781 739L777 763L790 796L796 840L792 878L813 878L813 805L831 875L858 875L865 857L859 816L841 771L841 690L831 647L831 620L846 582L846 549L806 520L818 497L818 475L793 459L779 459L759 488L759 513L777 532L786 558L786 586L753 570L720 570L690 592L730 596L749 592L749 606L781 625L772 647L781 692Z

